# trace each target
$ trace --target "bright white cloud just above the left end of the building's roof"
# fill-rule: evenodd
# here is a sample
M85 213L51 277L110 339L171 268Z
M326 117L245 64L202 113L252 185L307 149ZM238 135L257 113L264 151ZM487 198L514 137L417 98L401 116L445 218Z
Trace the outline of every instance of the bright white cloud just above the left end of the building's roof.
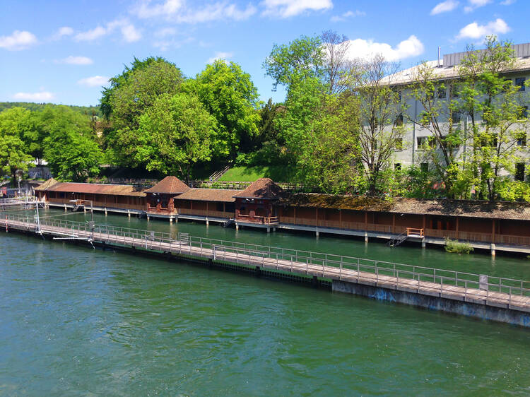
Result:
M418 37L411 35L396 47L387 43L373 42L372 40L356 39L350 40L348 48L348 59L369 59L376 54L382 54L387 61L399 61L423 54L423 43Z

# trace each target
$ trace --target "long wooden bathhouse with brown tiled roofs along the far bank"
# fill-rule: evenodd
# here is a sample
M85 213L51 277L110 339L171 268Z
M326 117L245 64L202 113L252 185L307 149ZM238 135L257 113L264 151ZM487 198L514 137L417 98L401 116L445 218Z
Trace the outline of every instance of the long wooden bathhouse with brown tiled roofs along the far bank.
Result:
M35 189L50 206L93 206L100 211L141 213L149 218L204 220L307 232L444 244L530 253L530 204L502 201L370 198L292 194L261 178L245 190L192 189L165 177L150 189L49 179Z

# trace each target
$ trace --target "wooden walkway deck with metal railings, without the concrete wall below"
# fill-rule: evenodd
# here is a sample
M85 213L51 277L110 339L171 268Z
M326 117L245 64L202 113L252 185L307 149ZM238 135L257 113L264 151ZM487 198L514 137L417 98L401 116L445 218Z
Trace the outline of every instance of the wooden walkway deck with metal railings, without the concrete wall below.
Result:
M530 313L530 282L523 280L64 219L45 219L37 224L27 215L0 214L0 227L6 232L18 230L54 239L172 254L206 263L232 263L256 271L266 269L331 283L365 285ZM530 326L530 316L526 318Z

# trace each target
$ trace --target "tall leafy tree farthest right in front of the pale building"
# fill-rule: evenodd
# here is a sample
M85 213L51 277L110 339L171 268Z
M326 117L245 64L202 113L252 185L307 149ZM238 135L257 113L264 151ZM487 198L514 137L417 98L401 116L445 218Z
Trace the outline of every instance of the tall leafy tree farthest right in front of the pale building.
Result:
M458 106L470 119L469 167L479 198L498 198L497 191L505 179L502 171L514 174L514 164L522 161L517 153L517 141L526 141L521 93L517 85L502 76L516 64L511 42L489 36L485 49L475 51L469 46L459 65Z

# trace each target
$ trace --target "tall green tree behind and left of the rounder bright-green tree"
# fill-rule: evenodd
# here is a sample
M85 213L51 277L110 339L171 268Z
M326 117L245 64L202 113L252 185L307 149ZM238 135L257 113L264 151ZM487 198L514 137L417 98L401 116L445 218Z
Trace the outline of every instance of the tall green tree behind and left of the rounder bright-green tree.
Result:
M105 132L107 148L122 165L137 166L139 117L160 95L175 95L184 81L180 69L163 58L134 59L102 93L101 109L112 123Z

